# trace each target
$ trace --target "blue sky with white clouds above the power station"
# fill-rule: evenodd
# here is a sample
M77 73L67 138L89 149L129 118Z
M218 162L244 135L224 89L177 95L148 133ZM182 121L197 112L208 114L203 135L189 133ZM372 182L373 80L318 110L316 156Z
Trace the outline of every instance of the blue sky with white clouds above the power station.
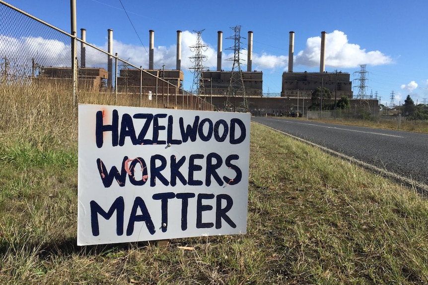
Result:
M6 2L70 32L69 0ZM154 30L154 68L165 64L175 69L176 31L181 30L185 89L193 82L189 57L194 54L189 47L196 44L194 31L205 29L204 65L212 70L217 31L223 32L222 68L230 70L232 61L225 59L233 51L226 49L234 42L227 37L233 35L231 27L239 25L243 49L248 31L253 31L252 69L263 71L264 93L281 92L282 73L288 70L289 32L295 32L293 71L318 72L321 32L326 31L327 72L349 72L354 80L359 65L366 64L366 93L377 93L381 104L389 105L392 92L397 105L407 95L415 103L428 103L426 0L76 0L76 10L78 34L85 28L87 42L106 50L107 29L113 29L113 52L143 68L148 68L148 31ZM241 58L246 71L246 50Z

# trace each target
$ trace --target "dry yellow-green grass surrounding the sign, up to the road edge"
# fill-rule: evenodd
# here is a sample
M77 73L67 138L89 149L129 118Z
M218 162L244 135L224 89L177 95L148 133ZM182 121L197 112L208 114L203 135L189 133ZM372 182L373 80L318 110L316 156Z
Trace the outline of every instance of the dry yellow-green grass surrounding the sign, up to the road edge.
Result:
M427 200L257 124L247 234L78 247L71 93L0 88L0 284L428 283Z

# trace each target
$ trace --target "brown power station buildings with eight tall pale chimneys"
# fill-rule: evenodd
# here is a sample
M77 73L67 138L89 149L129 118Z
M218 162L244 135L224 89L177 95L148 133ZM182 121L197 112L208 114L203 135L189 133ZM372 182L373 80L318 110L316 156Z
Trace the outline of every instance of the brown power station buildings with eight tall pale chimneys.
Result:
M109 30L109 35L111 34ZM263 96L263 72L252 70L252 48L253 32L248 32L248 53L247 69L239 70L241 92L239 94L230 93L232 76L234 70L223 70L222 63L222 32L218 31L217 41L217 68L216 70L200 70L200 86L198 95L206 102L214 105L215 110L220 111L249 111L253 114L279 114L286 115L292 113L305 114L311 106L312 92L318 87L328 88L336 98L347 96L352 102L354 109L369 108L373 115L378 112L378 101L375 99L353 99L352 81L350 74L345 72L326 72L325 71L325 35L321 33L321 56L320 72L294 72L293 53L294 53L294 32L290 32L289 41L289 62L288 71L282 75L281 97ZM181 70L181 31L177 31L177 65L176 69L154 69L154 31L149 31L149 64L148 69L122 68L117 76L117 90L120 93L144 95L151 91L156 95L180 95L182 104L190 99L185 99L189 95L183 91L184 73ZM112 37L109 37L111 41ZM109 43L109 50L110 48ZM84 53L84 49L81 49ZM81 55L84 58L84 54ZM82 60L82 63L84 60ZM234 61L234 63L236 60ZM84 65L83 65L84 66ZM232 68L233 69L233 68ZM112 71L110 71L112 72ZM108 80L112 81L114 75L103 68L79 68L79 86L85 86L85 89L99 90L106 86L111 86ZM39 74L40 80L50 78L58 81L65 79L70 81L71 69L60 67L44 67ZM235 82L236 84L236 82ZM180 89L181 88L181 89ZM157 98L157 96L156 96ZM169 104L177 103L176 97L169 101L168 97L162 102L165 107ZM193 99L190 100L193 102ZM366 107L364 107L366 106ZM367 110L365 109L365 110ZM363 109L364 110L364 109Z

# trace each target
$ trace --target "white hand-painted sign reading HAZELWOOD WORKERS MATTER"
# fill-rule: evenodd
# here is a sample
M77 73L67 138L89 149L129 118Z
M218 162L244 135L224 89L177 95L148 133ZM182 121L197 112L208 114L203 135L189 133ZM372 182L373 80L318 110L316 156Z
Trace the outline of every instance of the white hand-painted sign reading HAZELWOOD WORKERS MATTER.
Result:
M78 111L78 245L246 233L250 114Z

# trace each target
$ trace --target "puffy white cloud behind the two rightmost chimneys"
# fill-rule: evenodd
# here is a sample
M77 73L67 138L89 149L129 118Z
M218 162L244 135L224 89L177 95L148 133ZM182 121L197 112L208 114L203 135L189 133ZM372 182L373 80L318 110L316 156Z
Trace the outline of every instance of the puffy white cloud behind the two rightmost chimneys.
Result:
M319 66L321 37L307 39L306 48L297 53L295 64L309 67ZM338 68L357 67L360 64L383 65L392 63L379 51L366 52L357 44L350 44L344 32L334 31L326 34L325 65Z

